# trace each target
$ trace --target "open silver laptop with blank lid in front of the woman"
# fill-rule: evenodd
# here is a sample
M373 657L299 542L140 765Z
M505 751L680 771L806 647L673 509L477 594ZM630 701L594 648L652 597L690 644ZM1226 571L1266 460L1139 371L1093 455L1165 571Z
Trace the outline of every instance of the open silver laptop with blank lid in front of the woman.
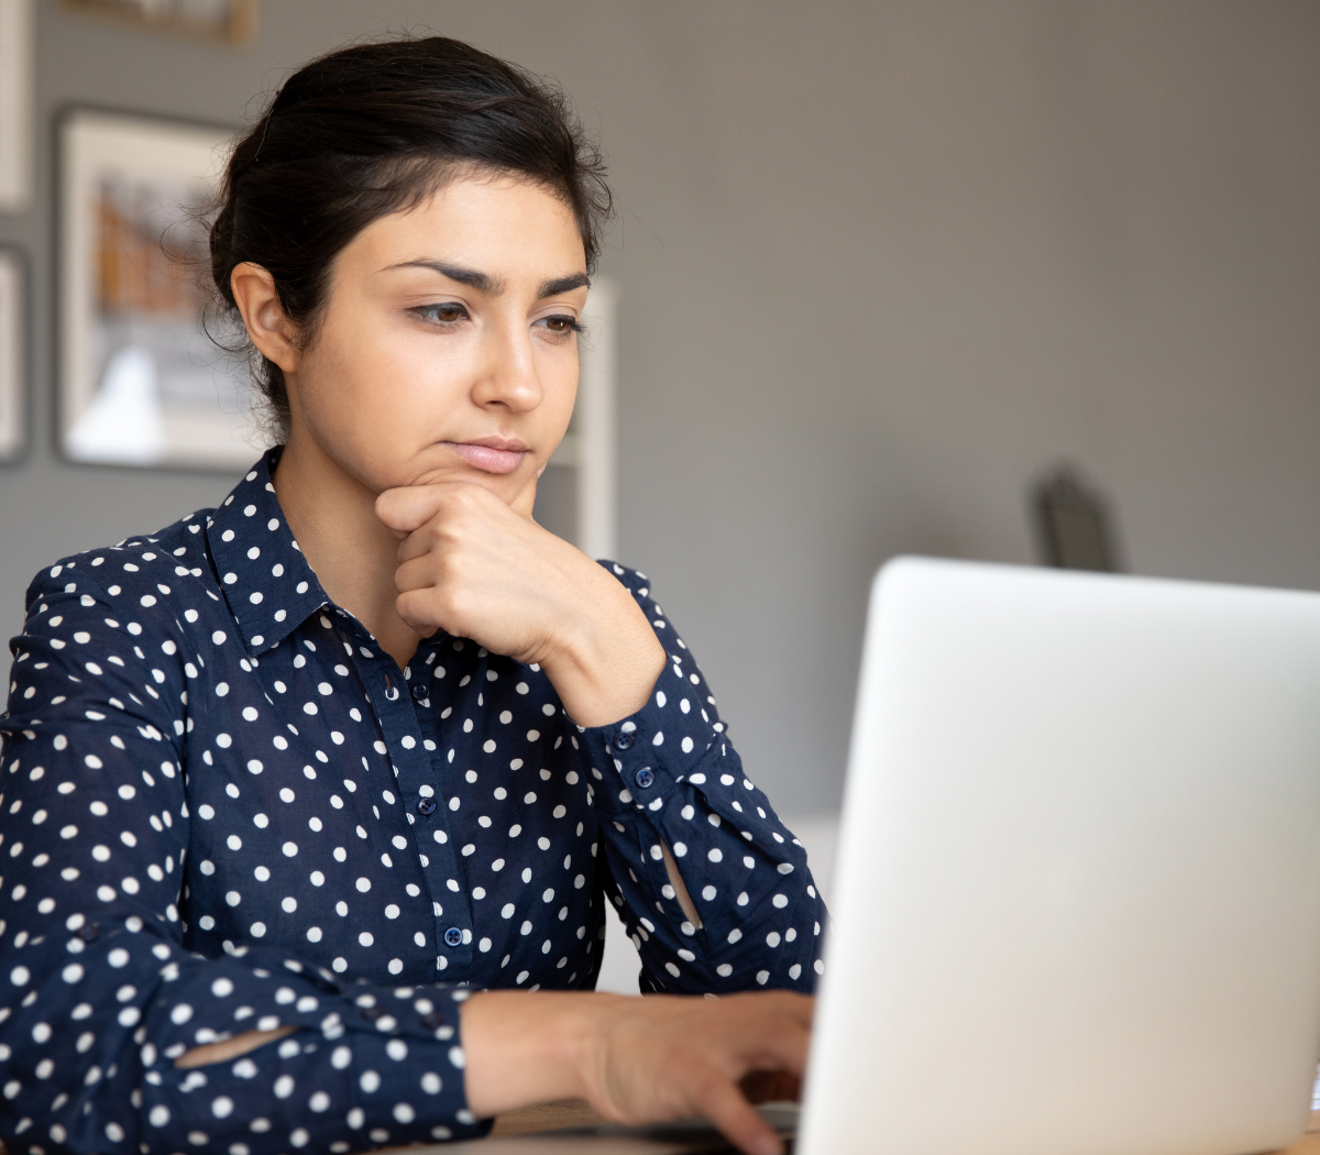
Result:
M1320 594L890 562L843 814L796 1155L1246 1155L1302 1135ZM496 1146L713 1150L546 1142Z

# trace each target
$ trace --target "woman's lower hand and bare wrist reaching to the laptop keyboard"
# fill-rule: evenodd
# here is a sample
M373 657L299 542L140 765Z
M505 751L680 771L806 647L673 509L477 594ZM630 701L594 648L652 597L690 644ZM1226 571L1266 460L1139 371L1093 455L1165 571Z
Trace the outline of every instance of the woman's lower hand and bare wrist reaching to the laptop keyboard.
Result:
M701 1115L748 1155L780 1155L748 1094L796 1098L813 1007L788 991L484 991L462 1011L467 1102L480 1117L554 1098L620 1123Z

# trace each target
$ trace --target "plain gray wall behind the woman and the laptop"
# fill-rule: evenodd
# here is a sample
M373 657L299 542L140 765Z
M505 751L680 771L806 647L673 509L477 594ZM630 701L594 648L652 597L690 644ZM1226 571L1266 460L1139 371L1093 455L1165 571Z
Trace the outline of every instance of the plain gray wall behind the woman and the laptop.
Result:
M557 75L614 158L622 554L751 774L838 803L869 577L1027 561L1060 459L1146 573L1320 587L1320 5L267 0L248 50L40 3L36 446L0 469L0 631L55 556L227 479L59 463L51 135L90 102L239 120L351 37Z

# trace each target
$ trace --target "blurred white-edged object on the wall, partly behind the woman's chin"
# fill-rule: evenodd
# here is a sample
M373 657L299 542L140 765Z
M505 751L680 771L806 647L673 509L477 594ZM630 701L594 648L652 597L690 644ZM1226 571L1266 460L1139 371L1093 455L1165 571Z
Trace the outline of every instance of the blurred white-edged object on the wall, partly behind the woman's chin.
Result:
M578 335L578 395L560 447L537 484L536 519L590 557L618 556L619 286L598 276Z

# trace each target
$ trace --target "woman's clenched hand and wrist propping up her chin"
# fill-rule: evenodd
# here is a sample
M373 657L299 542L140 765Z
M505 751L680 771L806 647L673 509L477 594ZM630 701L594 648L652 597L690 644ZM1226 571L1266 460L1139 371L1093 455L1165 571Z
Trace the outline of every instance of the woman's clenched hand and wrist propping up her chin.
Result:
M387 490L376 515L405 535L396 611L421 636L440 628L539 663L579 726L645 704L665 661L651 624L609 572L532 520L529 498L511 507L444 482Z

